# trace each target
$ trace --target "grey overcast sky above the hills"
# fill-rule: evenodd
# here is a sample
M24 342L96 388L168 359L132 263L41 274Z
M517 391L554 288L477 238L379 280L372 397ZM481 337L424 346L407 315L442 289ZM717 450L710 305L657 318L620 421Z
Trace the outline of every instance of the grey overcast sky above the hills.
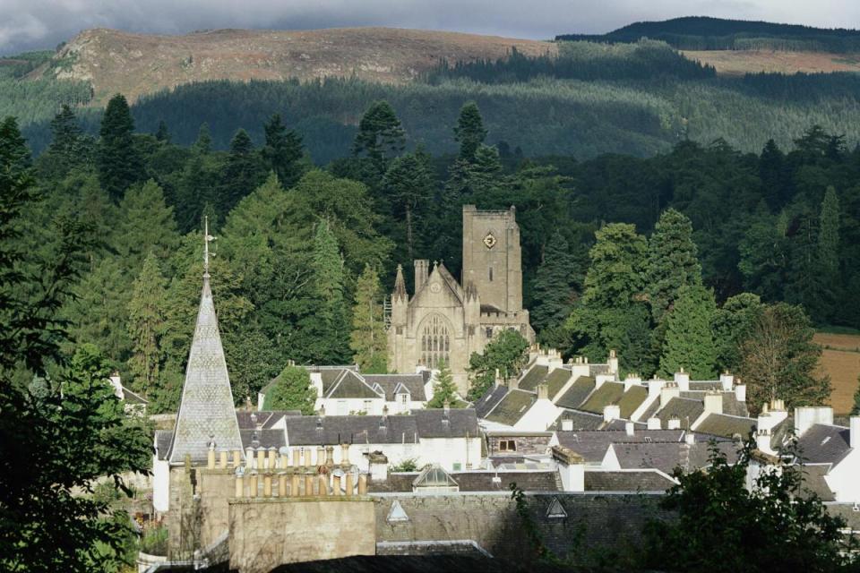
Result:
M860 0L0 0L0 54L53 48L87 28L394 26L552 38L687 15L858 28Z

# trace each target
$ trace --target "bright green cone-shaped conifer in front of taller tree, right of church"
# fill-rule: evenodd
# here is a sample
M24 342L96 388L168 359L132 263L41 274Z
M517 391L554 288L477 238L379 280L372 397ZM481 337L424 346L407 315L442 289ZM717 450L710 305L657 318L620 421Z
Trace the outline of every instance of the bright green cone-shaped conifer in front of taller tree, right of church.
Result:
M667 313L666 342L660 356L660 374L671 377L684 368L696 380L716 376L717 347L711 324L717 304L709 289L684 286L675 307Z

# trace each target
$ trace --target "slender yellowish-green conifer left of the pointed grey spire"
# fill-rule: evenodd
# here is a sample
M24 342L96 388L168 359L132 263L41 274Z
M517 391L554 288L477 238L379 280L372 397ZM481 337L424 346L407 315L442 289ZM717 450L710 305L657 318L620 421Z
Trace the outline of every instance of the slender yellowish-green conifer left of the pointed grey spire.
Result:
M150 252L132 286L127 322L133 345L128 365L134 376L134 388L144 394L148 394L159 380L163 357L160 338L165 323L164 297L165 284L159 261Z

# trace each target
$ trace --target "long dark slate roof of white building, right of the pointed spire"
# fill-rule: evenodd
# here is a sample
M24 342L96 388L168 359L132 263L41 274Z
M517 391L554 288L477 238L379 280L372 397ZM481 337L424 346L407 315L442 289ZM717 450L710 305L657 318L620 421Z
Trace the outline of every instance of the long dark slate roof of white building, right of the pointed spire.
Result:
M417 443L424 438L479 436L475 410L416 410L411 415L327 415L286 418L290 446Z

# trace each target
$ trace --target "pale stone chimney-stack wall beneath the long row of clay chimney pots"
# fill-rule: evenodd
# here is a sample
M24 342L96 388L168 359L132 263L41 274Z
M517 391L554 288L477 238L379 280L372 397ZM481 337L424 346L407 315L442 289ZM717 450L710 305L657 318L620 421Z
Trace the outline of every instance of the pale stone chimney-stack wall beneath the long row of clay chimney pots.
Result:
M367 497L230 500L230 569L268 573L282 563L374 555Z

